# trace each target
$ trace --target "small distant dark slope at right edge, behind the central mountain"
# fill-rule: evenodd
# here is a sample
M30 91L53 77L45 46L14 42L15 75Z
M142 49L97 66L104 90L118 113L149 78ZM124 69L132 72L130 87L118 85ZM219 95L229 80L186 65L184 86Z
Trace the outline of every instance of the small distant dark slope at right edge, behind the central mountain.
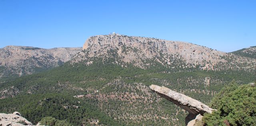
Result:
M232 54L238 55L238 56L244 56L249 58L256 59L256 46L249 47L249 48L243 48L234 52L230 52Z

